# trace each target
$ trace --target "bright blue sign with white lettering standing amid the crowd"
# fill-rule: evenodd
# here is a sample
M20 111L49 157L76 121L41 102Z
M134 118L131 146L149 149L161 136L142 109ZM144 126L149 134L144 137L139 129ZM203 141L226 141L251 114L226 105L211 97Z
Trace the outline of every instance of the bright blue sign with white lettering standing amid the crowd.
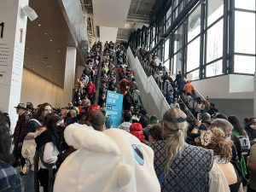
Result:
M116 128L121 123L122 108L123 108L122 94L108 90L106 101L106 114L112 119L112 127Z

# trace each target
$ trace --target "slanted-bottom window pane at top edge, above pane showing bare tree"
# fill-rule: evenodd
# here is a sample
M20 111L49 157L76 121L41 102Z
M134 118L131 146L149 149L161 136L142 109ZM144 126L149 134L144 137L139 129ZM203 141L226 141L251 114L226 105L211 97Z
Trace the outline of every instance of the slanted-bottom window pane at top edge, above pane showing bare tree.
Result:
M208 0L207 26L212 25L215 20L224 15L223 0Z

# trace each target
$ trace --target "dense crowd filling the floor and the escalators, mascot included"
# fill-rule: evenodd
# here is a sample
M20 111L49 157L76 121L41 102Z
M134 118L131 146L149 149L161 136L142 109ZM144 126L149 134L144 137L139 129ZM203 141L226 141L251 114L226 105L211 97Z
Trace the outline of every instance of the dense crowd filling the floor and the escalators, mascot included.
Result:
M13 134L8 113L0 113L0 191L256 191L256 118L241 125L195 96L182 73L173 80L155 64L171 82L163 86L170 109L148 115L126 60L124 45L98 42L67 107L19 103ZM124 95L123 121L113 129L108 90Z

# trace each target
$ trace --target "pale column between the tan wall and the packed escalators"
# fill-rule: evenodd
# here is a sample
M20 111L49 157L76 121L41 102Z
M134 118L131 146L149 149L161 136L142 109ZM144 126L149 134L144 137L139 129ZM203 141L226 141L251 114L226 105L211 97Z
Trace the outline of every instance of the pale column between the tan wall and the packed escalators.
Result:
M67 47L65 79L64 79L64 98L63 105L67 106L68 102L73 99L73 87L76 72L76 55L77 50L75 47Z

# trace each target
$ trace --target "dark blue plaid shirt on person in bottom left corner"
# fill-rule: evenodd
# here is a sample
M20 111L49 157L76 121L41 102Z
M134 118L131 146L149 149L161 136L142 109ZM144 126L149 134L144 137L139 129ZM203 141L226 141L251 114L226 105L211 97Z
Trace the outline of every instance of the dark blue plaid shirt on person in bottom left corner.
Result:
M15 168L0 161L0 192L21 192L20 182Z

